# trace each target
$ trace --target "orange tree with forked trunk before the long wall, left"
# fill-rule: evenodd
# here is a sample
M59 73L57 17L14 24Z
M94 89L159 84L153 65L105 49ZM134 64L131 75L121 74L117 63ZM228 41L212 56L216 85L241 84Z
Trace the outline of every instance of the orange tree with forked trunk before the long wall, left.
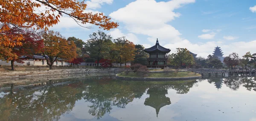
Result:
M41 53L47 59L47 65L52 69L52 65L57 59L72 61L76 58L76 45L73 41L68 42L64 37L55 31L44 31L42 34L44 48Z

